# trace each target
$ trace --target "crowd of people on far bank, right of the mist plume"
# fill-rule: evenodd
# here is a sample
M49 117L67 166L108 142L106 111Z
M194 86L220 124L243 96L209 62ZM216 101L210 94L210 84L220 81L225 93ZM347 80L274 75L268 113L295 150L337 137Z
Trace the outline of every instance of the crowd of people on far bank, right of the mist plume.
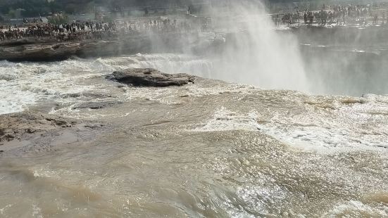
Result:
M282 17L282 23L300 23L326 25L336 23L337 25L360 24L379 25L388 23L388 9L384 7L373 8L367 5L333 5L325 6L319 11L303 11L287 13Z

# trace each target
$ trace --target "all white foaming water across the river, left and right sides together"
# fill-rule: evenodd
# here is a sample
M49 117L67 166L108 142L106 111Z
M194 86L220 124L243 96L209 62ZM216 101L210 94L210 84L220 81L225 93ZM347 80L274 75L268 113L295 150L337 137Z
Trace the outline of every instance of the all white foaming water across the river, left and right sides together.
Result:
M115 84L101 78L115 70L125 68L156 68L163 72L185 72L199 77L212 78L213 62L194 56L176 54L137 54L98 59L71 59L56 63L0 63L0 114L15 113L37 105L48 105L52 113L63 111L72 113L74 105L85 101L132 101L146 98L166 104L179 103L173 96L206 96L237 93L243 96L257 90L255 86L229 84L228 86L196 86L189 92L166 88L149 91L146 89L122 87L117 92ZM144 94L143 90L146 91ZM269 96L277 93L269 92ZM288 98L284 92L282 98ZM268 98L268 97L265 97ZM301 100L303 99L303 100ZM221 131L243 129L265 131L267 134L306 150L338 152L354 149L386 148L387 132L384 130L385 116L388 114L385 96L364 95L356 97L303 96L297 94L290 108L303 108L297 115L280 113L283 105L270 120L261 120L267 108L252 108L245 113L221 106L203 127L196 131ZM297 103L296 103L297 102ZM317 111L316 109L324 109ZM328 113L326 110L332 110ZM70 111L70 112L69 112ZM302 113L303 111L303 113ZM66 114L65 114L66 115ZM84 114L87 116L87 113ZM362 129L368 123L372 129Z

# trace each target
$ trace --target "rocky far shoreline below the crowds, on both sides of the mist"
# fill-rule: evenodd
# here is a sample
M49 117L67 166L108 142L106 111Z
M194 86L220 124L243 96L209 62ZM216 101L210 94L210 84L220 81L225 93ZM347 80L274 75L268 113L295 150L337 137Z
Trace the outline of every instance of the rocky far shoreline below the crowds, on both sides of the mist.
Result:
M347 44L353 40L352 36L354 37L359 31L363 31L365 37L357 40L368 41L374 39L373 37L384 35L384 32L388 32L388 25L368 25L365 27L354 25L282 25L277 27L275 31L296 34L301 39L313 35L315 40L335 39ZM380 31L383 34L375 34L375 32ZM342 33L346 33L346 37L343 37ZM72 57L94 58L136 53L183 53L188 51L187 49L204 53L213 49L211 46L220 46L220 44L215 39L212 41L209 37L200 36L198 32L127 35L121 39L111 40L58 41L51 38L25 38L0 41L0 60L51 62Z

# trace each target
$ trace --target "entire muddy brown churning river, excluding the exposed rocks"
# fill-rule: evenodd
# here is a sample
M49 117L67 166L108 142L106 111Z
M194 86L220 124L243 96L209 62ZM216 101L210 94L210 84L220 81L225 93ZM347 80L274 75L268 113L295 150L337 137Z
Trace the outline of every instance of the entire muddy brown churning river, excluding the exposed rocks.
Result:
M213 68L173 54L1 62L1 114L98 124L4 142L0 217L388 216L387 96L104 78L131 67L208 78ZM77 107L89 101L117 104Z

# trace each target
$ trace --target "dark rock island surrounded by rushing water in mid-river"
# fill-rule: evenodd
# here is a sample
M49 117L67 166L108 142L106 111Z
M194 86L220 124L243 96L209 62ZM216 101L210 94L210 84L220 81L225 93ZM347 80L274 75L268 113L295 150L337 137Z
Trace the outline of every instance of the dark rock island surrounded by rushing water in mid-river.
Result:
M113 74L106 76L106 79L132 86L166 87L194 83L195 77L183 73L167 74L149 68L131 68L123 71L115 71Z

